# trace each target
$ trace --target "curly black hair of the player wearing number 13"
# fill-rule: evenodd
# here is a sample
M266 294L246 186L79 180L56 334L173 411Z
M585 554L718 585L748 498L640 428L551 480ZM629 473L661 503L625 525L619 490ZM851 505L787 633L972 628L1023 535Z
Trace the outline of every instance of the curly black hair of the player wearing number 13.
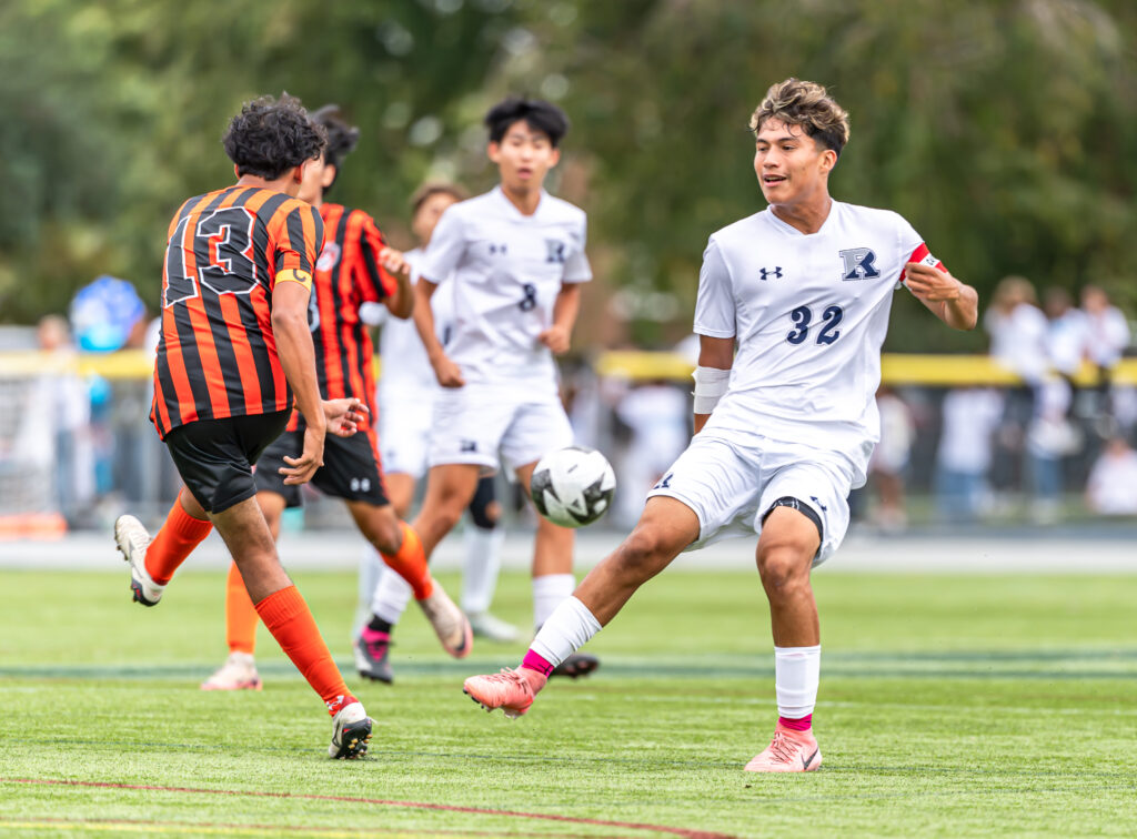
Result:
M260 97L246 102L230 121L222 143L238 175L275 181L305 160L318 158L327 132L308 117L299 99L282 93L280 100Z

